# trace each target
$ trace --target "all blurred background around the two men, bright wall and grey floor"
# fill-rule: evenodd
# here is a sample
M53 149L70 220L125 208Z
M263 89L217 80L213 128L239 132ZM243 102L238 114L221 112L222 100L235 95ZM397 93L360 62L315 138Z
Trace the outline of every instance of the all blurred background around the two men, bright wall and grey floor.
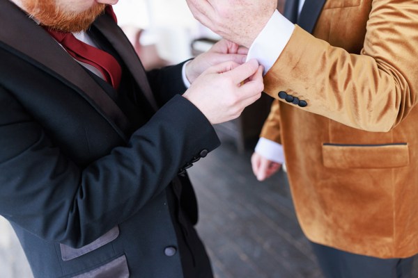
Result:
M114 10L148 70L192 58L219 40L194 19L185 0L121 0ZM286 173L258 182L251 171L270 103L263 95L238 119L215 126L222 146L188 170L199 201L197 229L217 278L321 277L297 224ZM0 278L31 277L0 216Z

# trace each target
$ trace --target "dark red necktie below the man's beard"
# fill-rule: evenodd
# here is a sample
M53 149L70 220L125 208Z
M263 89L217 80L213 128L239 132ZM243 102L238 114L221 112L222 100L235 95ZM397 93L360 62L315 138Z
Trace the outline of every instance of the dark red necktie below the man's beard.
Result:
M111 6L107 6L106 12L116 22L116 16ZM68 54L83 63L93 65L93 67L97 68L103 74L104 79L108 83L116 90L118 89L119 83L121 82L122 69L114 56L111 56L106 51L91 47L81 40L77 40L72 33L64 33L49 28L45 28L45 30L64 47Z

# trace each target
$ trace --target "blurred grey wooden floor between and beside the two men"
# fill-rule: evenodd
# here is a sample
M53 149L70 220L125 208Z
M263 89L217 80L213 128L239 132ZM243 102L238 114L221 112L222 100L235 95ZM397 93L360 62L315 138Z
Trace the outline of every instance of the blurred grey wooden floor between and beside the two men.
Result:
M215 277L322 278L297 224L286 174L258 182L250 156L226 141L188 170ZM417 278L418 267L414 273ZM30 277L20 245L0 219L0 278Z

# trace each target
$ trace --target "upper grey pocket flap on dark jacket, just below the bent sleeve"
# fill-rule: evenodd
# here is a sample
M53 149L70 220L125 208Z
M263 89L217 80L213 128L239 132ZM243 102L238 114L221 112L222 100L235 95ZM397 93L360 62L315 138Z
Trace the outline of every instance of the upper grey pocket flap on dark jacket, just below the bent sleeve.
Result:
M92 252L93 250L96 250L103 245L106 245L107 243L110 243L111 241L115 240L119 236L119 227L116 226L110 231L108 231L103 236L100 236L100 238L93 241L93 243L90 243L88 245L85 245L81 248L72 248L68 245L64 245L60 243L61 248L61 257L63 261L70 261L72 259L78 258L79 256L82 256L84 254L87 254L88 252Z

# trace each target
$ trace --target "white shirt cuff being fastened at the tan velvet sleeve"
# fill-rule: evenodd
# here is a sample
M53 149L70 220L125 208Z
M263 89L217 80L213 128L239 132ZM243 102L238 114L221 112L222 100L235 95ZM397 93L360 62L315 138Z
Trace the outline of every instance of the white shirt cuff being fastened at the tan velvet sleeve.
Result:
M256 58L263 65L264 74L270 70L281 51L291 39L295 25L277 10L249 47L247 60Z

